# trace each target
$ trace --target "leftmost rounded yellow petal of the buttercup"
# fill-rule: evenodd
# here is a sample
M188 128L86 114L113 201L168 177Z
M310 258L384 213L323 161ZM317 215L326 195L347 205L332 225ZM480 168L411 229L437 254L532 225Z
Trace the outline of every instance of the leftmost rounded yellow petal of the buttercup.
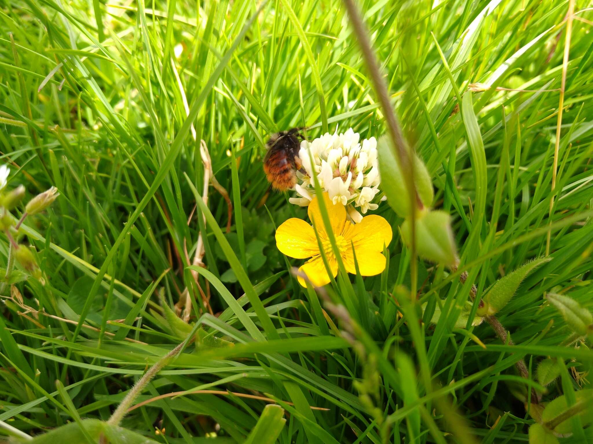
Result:
M278 227L276 246L281 253L295 259L310 258L319 254L313 227L296 217L285 221Z

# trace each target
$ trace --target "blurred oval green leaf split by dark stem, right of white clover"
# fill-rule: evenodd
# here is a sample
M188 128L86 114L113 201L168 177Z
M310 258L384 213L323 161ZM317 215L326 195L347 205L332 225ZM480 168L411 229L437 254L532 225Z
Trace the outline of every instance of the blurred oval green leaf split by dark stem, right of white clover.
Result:
M393 211L401 217L407 217L410 215L410 194L390 143L387 136L382 136L377 141L381 189L385 192L387 203L393 208ZM426 208L430 208L434 197L431 176L424 162L416 154L414 155L414 183L420 201Z

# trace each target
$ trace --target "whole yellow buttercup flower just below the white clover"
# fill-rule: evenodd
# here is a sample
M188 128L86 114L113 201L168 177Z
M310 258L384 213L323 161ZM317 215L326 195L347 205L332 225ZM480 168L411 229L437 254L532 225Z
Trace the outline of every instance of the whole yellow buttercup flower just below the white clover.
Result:
M346 207L337 202L335 205L327 193L323 200L329 213L331 230L336 237L336 244L346 271L356 274L354 255L362 276L374 276L385 269L385 256L382 255L383 246L391 242L391 226L384 217L368 215L358 224L346 220ZM317 197L313 198L308 207L311 221L315 221L317 234L323 246L323 253L329 263L331 273L337 275L337 259L334 256L329 237L327 236ZM305 262L299 271L307 275L315 287L321 287L330 282L326 267L321 258L321 252L315 237L315 231L307 222L298 218L285 221L276 230L276 246L280 252L295 259L311 258ZM354 247L354 253L352 252ZM299 283L305 287L305 280L298 277Z

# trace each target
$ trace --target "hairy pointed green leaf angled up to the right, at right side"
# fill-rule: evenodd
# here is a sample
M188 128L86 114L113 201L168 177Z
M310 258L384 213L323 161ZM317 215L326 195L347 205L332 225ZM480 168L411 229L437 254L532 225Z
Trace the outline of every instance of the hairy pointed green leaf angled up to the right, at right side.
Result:
M478 308L477 314L480 316L492 315L498 313L511 300L523 279L535 268L548 262L551 258L538 258L527 262L517 268L515 271L498 279L482 298L484 305Z

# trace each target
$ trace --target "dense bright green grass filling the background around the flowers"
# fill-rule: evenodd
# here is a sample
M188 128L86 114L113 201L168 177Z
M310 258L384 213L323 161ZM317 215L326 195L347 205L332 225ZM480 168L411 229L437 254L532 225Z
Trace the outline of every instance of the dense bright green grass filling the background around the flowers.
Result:
M559 346L571 331L543 298L560 292L593 307L593 11L575 4L563 63L568 1L358 2L404 133L433 178L433 207L451 214L460 250L457 274L418 261L419 300L410 301L395 290L412 285L416 259L385 202L376 213L393 225L388 268L349 291L295 287L288 266L299 261L287 262L273 240L275 226L305 211L269 192L262 157L270 133L385 133L340 1L0 0L8 187L24 184L28 197L51 185L61 193L21 229L46 285L20 282L12 298L2 286L0 420L37 435L76 414L109 418L147 366L184 339L158 294L173 307L189 285L190 320L237 345L190 345L137 402L193 388L223 394L155 401L133 410L127 429L161 443L243 442L266 405L240 396L250 394L285 408L283 444L527 442L534 419L515 362L524 358L535 373L546 356L561 358L546 401L588 387L583 372L593 361L586 343ZM490 88L468 91L476 82ZM202 139L233 204L229 215L211 187L206 224L200 207L190 217L190 184L203 191ZM498 316L516 345L487 323L454 327L451 308L471 284L480 296L546 255L550 224L551 260ZM200 231L199 285L219 316L203 307L186 269ZM0 252L6 263L4 234ZM15 290L33 311L17 305ZM348 307L352 324L325 297ZM436 326L435 307L451 315ZM354 345L342 329L355 332ZM592 442L579 421L562 442Z

